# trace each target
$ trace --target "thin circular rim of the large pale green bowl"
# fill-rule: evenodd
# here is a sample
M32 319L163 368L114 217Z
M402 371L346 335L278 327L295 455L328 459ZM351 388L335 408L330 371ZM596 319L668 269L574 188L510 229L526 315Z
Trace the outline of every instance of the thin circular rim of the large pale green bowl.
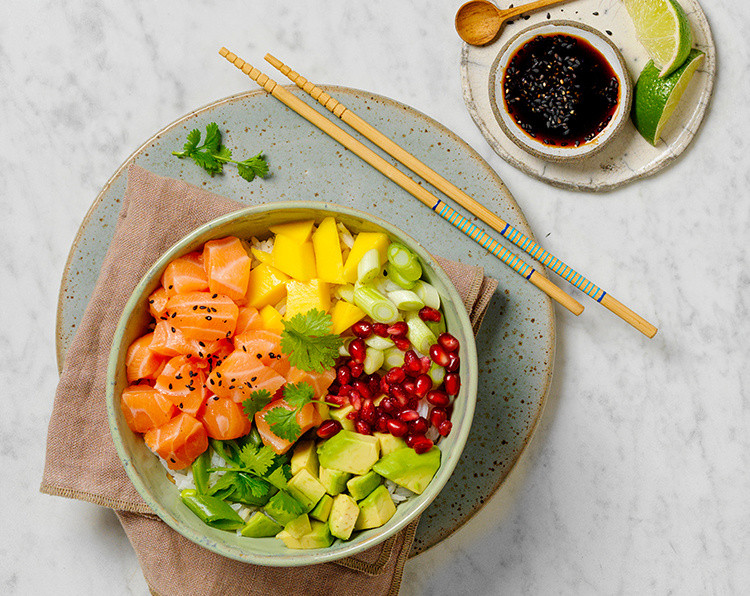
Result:
M464 399L466 400L466 409L464 414L465 422L460 429L457 429L459 430L457 435L451 437L454 440L453 452L455 453L455 457L451 458L451 462L448 462L446 458L441 457L440 468L438 468L435 477L432 479L427 489L425 489L422 494L412 497L412 499L417 500L417 504L414 506L413 511L405 515L403 519L394 523L386 530L373 534L362 542L353 542L352 544L337 548L333 551L329 547L327 547L325 549L310 550L289 549L289 554L281 555L247 553L240 548L235 548L232 546L227 548L226 545L214 543L210 540L207 541L205 534L193 531L190 527L184 526L179 520L169 514L165 507L163 507L156 499L152 497L147 487L141 481L138 471L135 469L135 466L133 465L130 457L128 456L128 453L126 452L125 445L119 437L119 432L121 430L120 424L117 419L117 405L119 405L119 399L115 399L117 375L118 372L121 372L120 367L118 366L118 362L120 360L119 344L122 341L122 336L126 331L133 311L140 305L142 294L144 293L146 286L148 286L153 281L154 276L156 276L157 274L161 275L164 267L166 267L166 265L172 259L176 258L182 252L184 252L186 247L194 243L197 238L207 232L210 232L213 228L232 222L235 219L252 217L253 215L266 213L268 211L298 211L300 209L316 211L322 210L330 212L331 215L334 215L335 213L341 213L350 217L360 218L381 227L391 236L405 240L409 248L414 250L420 256L420 258L424 262L426 262L435 272L435 275L448 292L451 302L457 306L461 306L459 308L455 308L455 312L457 318L460 321L461 327L466 330L467 338L471 340L469 342L465 342L466 345L464 347L466 348L469 356L468 362L466 362L466 364L468 365L468 369L473 374L466 375L466 377L462 379L462 386L465 385L467 388L464 396ZM122 315L120 316L117 327L115 328L107 365L105 401L107 409L107 421L120 462L125 468L125 472L127 473L130 481L135 486L138 494L141 496L141 498L144 499L148 507L154 513L156 513L156 515L162 521L164 521L172 529L174 529L187 539L191 540L192 542L222 556L256 565L271 567L297 567L336 561L367 550L368 548L384 542L397 532L401 531L427 508L427 506L437 497L440 491L447 484L460 460L461 453L463 452L466 445L466 441L468 439L473 422L475 404L477 399L478 364L475 335L472 330L469 315L466 312L466 309L462 308L462 306L463 300L458 294L455 286L450 281L448 275L445 273L440 264L425 249L424 246L422 246L417 240L415 240L409 234L397 228L393 224L364 211L322 201L280 201L242 208L232 213L217 217L197 227L189 234L183 236L156 260L156 262L148 269L148 271L141 277L138 284L135 286L133 292L131 293L128 301L125 304L125 307L123 308ZM117 397L119 398L119 396ZM436 480L438 480L437 483L435 482ZM385 526L382 527L385 528L387 525L388 523L386 523Z

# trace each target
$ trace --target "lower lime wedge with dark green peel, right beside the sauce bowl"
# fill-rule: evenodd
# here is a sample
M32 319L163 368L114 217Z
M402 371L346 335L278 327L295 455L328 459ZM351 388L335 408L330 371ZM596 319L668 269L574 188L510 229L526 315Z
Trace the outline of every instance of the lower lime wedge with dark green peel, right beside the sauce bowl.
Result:
M691 50L683 65L666 78L659 76L659 70L651 60L638 77L633 96L633 123L652 145L659 140L664 125L704 57L703 52Z

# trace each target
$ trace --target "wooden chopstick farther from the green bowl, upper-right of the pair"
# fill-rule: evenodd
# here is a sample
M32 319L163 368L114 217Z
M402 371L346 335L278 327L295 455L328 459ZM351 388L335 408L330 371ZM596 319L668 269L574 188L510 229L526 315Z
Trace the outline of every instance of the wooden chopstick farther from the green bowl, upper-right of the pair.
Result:
M446 180L443 176L435 172L428 165L424 164L419 159L414 157L411 153L406 151L403 147L401 147L400 145L386 137L384 134L382 134L380 131L378 131L376 128L372 127L370 124L362 120L362 118L357 116L354 112L345 107L339 101L331 97L328 93L316 87L305 77L293 71L289 66L285 65L271 54L266 54L265 59L274 68L278 69L282 74L288 77L300 89L308 93L320 105L329 110L334 116L337 116L338 118L346 122L354 130L364 135L375 145L388 153L388 155L401 162L412 172L424 178L427 182L432 184L446 196L456 201L456 203L464 207L472 215L475 215L485 224L500 232L500 234L513 242L516 246L519 246L522 250L526 251L532 257L538 259L539 262L541 262L543 265L552 269L552 271L557 273L563 279L576 286L584 294L587 294L592 299L602 304L602 306L615 313L618 317L630 323L633 327L638 329L638 331L640 331L647 337L653 337L654 335L656 335L656 327L646 321L643 317L630 310L624 304L620 303L618 300L612 297L611 294L608 294L601 288L597 287L594 283L563 263L560 259L548 253L536 242L528 238L522 232L511 226L509 223L507 223L497 215L495 215L492 211L470 197L455 184ZM430 207L438 212L440 212L440 210L453 211L441 200L436 200L435 204L430 205Z

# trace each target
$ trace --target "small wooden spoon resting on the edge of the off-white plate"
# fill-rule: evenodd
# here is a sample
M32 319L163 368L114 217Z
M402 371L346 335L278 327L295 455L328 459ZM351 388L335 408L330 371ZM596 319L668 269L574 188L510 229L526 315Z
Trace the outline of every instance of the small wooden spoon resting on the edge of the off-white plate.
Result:
M489 0L469 0L456 13L456 31L459 37L469 45L483 46L497 37L508 19L566 1L538 0L500 10Z

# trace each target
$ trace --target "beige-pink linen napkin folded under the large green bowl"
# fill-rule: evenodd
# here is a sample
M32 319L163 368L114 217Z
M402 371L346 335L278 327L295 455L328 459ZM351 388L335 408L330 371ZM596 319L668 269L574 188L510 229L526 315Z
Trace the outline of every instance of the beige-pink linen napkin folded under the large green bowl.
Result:
M111 507L155 594L397 594L419 520L356 556L302 568L249 565L187 540L159 520L130 483L115 451L104 403L114 330L140 278L196 227L244 207L137 166L94 293L71 342L47 435L41 491ZM439 259L475 332L497 286L481 267Z

